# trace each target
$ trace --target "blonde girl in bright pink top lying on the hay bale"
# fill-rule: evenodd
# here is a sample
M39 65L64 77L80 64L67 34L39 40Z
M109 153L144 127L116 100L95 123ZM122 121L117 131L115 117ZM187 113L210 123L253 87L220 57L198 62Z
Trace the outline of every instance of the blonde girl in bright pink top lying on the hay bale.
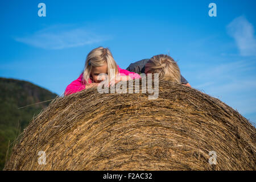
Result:
M84 71L79 78L67 86L64 95L67 96L68 94L80 92L83 89L98 86L101 81L107 78L109 82L115 84L119 81L141 78L141 76L119 68L108 48L97 47L89 52L86 57Z

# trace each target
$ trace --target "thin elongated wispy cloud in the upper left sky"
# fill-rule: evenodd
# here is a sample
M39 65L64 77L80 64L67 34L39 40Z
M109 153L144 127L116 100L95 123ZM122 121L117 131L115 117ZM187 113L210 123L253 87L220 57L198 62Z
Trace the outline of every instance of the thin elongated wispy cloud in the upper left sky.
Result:
M108 40L85 27L52 26L37 31L30 36L15 38L16 41L44 49L63 49L85 46Z

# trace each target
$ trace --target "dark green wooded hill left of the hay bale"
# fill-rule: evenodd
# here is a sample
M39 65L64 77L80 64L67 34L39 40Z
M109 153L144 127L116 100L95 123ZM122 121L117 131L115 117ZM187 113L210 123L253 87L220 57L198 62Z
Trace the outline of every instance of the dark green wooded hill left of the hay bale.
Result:
M9 141L11 144L33 116L46 108L50 101L35 103L51 100L56 96L57 94L31 82L0 77L0 169L5 165ZM9 152L10 150L9 147Z

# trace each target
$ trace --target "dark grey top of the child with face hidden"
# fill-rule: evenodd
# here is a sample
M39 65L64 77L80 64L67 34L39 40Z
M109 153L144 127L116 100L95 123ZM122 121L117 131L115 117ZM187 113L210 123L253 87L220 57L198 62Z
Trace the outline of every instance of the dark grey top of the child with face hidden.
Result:
M126 68L126 70L130 71L130 72L134 72L134 73L138 73L138 74L141 74L141 73L145 73L145 65L147 63L149 59L143 59L143 60L140 60L140 61L137 61L135 63L131 63L129 65L128 68ZM181 80L181 84L187 84L188 81L182 76L180 75L180 80Z

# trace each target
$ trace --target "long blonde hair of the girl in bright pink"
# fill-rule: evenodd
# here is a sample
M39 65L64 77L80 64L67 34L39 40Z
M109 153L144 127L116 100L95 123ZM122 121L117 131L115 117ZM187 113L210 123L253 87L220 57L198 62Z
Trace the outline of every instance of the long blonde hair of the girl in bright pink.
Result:
M82 83L85 85L88 80L91 78L92 67L101 67L105 63L108 64L108 77L115 77L119 72L117 68L117 63L115 63L114 57L108 48L97 47L90 51L85 60L85 68L84 74L82 78ZM110 69L114 69L115 71L112 73Z

